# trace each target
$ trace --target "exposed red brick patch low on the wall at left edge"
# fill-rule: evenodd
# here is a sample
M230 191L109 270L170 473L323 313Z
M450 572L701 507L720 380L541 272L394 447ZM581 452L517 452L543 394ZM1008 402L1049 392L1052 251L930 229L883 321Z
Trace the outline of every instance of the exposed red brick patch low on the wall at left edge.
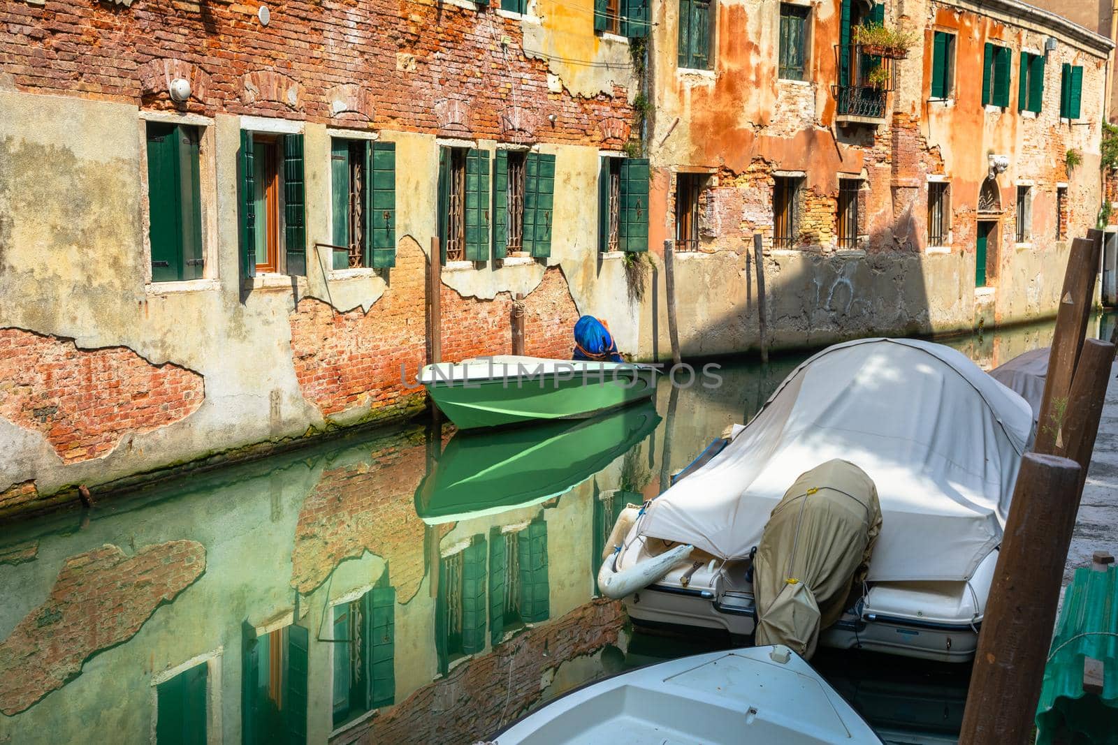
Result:
M203 398L198 373L126 347L79 350L73 340L0 328L0 417L41 432L67 464L177 422Z

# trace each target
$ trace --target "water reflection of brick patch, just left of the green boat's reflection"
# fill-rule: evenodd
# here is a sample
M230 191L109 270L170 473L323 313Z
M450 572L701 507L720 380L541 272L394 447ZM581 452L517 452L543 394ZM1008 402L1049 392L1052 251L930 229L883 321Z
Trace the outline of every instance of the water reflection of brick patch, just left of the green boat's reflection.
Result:
M415 493L427 472L423 430L370 448L360 464L326 470L303 503L292 552L293 588L306 594L345 558L366 551L388 563L399 602L415 595L426 573ZM437 542L453 525L430 528Z

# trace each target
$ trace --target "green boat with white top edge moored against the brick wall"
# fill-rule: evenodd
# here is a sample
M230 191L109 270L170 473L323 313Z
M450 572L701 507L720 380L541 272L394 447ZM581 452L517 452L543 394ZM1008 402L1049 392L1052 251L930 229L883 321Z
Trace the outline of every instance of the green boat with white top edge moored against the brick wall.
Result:
M585 419L656 391L650 365L518 355L439 362L419 382L458 429Z

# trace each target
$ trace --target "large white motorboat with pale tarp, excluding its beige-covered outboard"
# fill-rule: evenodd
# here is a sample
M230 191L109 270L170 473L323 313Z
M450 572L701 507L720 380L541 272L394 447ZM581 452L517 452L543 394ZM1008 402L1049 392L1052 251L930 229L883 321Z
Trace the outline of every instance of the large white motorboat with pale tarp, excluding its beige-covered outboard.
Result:
M969 659L1032 427L1020 395L949 347L885 338L828 347L709 462L629 516L599 583L691 546L628 594L629 615L751 634L750 556L769 515L805 468L839 458L875 484L883 527L860 596L821 643Z

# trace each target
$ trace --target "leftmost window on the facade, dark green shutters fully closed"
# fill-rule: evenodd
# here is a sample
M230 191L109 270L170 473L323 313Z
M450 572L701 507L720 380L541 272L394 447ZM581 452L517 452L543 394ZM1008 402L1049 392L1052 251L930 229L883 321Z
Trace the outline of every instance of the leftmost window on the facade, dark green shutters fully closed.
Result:
M149 122L148 217L152 281L202 276L198 127Z

